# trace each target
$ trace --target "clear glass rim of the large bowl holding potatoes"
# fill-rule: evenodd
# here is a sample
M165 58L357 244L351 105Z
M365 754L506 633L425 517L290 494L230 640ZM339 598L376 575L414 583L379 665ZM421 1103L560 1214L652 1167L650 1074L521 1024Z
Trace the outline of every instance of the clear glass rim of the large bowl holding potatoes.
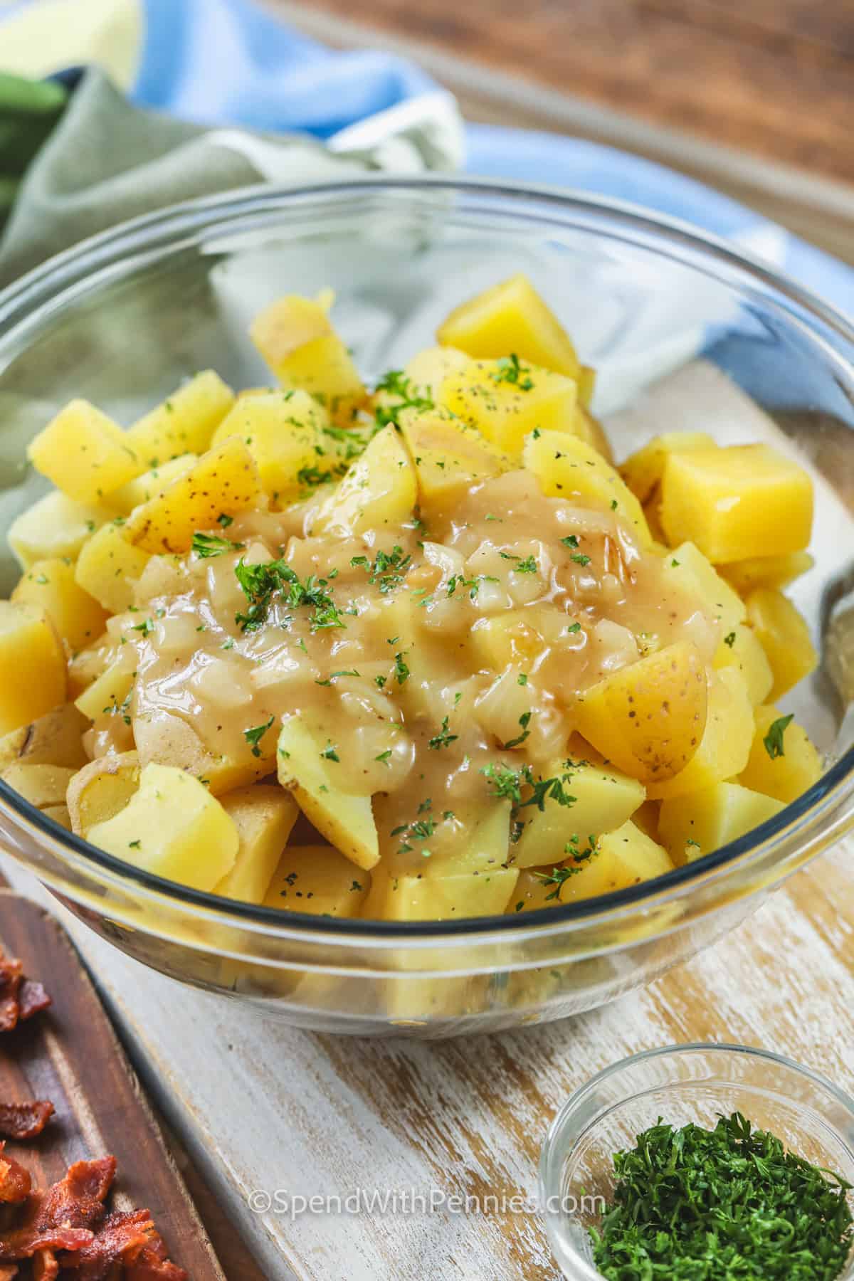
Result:
M556 210L558 227L566 229L567 225L572 225L566 222L566 215L572 213L579 219L575 225L580 225L585 231L599 231L609 234L611 238L624 238L632 245L654 249L659 254L666 252L676 261L705 270L707 274L714 274L717 279L723 279L731 287L740 284L743 288L758 292L764 297L764 301L778 309L782 306L784 310L789 311L786 304L791 304L794 309L799 307L809 313L813 320L821 322L830 330L834 339L831 345L834 356L845 375L845 380L850 383L854 397L854 325L841 313L810 291L777 273L761 257L736 250L727 241L698 231L680 219L667 218L629 201L592 197L581 191L547 184L442 175L398 178L380 174L307 183L300 187L266 183L243 187L236 192L183 201L154 214L129 219L47 259L0 292L0 354L3 345L9 336L15 333L18 327L26 330L46 319L60 302L69 301L68 295L73 300L81 286L83 290L87 286L97 288L105 282L104 273L109 273L110 268L120 268L125 263L129 263L131 268L142 261L150 263L152 255L155 259L160 255L166 256L181 247L196 245L201 238L218 232L239 231L242 219L251 222L265 214L273 215L289 206L298 206L301 201L324 197L333 202L344 201L350 196L370 192L387 195L446 192L470 196L475 200L493 197L508 204L539 202ZM561 213L565 215L563 219L560 218ZM603 222L602 227L595 225L597 219ZM609 227L608 220L615 225ZM713 272L712 268L716 270ZM97 279L93 281L96 273ZM117 279L120 278L120 274L109 274L109 278ZM803 318L798 316L796 323L803 325ZM827 333L817 334L810 330L810 337L827 346ZM842 352L836 343L841 343ZM0 374L1 371L0 366ZM461 921L408 921L401 924L374 920L335 920L294 913L294 916L298 915L297 921L291 920L289 915L283 920L286 913L277 908L220 898L133 867L131 863L90 845L81 836L45 817L41 811L0 780L0 808L12 810L28 826L47 836L51 845L59 845L64 854L72 856L72 863L79 862L83 867L93 863L106 871L110 877L117 877L120 884L133 881L149 893L163 894L178 903L204 908L220 920L223 917L230 918L234 925L245 927L255 925L271 933L275 933L278 927L291 938L294 934L325 934L330 936L350 935L355 942L360 938L382 938L389 943L394 939L412 942L419 938L426 940L431 936L451 935L458 938L483 933L498 933L504 936L525 935L538 925L543 927L571 926L574 922L581 924L593 916L607 918L612 912L622 913L624 910L640 907L652 899L666 902L667 897L675 897L690 889L694 883L726 872L730 865L745 858L749 860L750 856L758 858L775 838L782 838L793 825L798 828L802 821L818 820L828 810L835 810L837 803L844 807L844 812L834 815L834 825L839 829L837 835L841 836L854 821L854 746L827 770L818 783L759 828L684 867L676 867L663 876L643 881L630 889L526 912L524 918L502 915L467 917ZM740 866L745 866L745 863L741 862Z

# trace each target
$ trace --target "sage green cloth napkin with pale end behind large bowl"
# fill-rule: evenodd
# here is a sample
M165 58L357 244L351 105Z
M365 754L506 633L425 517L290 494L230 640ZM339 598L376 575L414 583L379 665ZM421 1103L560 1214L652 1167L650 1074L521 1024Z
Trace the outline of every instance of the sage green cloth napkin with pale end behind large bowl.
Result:
M448 94L362 123L365 146L353 126L347 147L330 150L303 135L206 129L140 110L95 68L70 95L51 81L0 76L0 287L87 236L181 200L458 161L461 122Z

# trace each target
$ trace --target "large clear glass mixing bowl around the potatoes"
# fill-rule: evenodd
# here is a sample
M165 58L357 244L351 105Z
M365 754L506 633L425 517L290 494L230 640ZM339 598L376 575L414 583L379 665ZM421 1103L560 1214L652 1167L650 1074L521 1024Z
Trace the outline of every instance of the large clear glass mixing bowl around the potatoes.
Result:
M443 178L265 187L138 219L46 263L0 296L0 528L44 492L27 442L72 396L129 423L201 368L269 382L246 328L280 292L332 286L344 337L376 375L428 345L452 304L519 270L599 366L594 407L620 452L666 428L799 447L819 494L817 566L794 596L823 648L854 547L854 330L729 245L548 190ZM0 835L92 929L187 983L306 1027L493 1030L648 983L842 835L854 751L839 693L819 671L789 706L827 758L808 793L658 880L543 912L401 925L218 899L101 853L3 783Z

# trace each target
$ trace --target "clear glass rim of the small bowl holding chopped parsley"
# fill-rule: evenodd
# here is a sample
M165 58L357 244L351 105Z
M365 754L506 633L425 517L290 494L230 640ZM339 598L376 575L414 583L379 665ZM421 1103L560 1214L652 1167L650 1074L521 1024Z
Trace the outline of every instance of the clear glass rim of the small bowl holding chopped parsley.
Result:
M597 1086L599 1086L603 1081L607 1081L609 1077L617 1076L620 1072L624 1072L626 1068L634 1067L638 1063L648 1063L656 1058L665 1058L666 1056L681 1058L697 1053L711 1054L711 1056L718 1053L741 1054L745 1058L754 1059L757 1062L775 1063L778 1067L785 1067L789 1071L795 1072L798 1076L805 1077L807 1080L812 1081L813 1085L818 1086L818 1089L825 1095L827 1095L835 1103L840 1104L845 1109L845 1112L848 1112L851 1122L851 1130L854 1132L854 1098L851 1098L850 1094L846 1094L846 1091L842 1090L839 1085L835 1085L834 1081L831 1081L830 1077L825 1076L822 1072L816 1072L812 1067L807 1067L804 1063L799 1063L796 1059L789 1058L787 1054L778 1054L776 1050L772 1049L761 1049L757 1045L739 1045L730 1041L686 1041L682 1045L680 1044L657 1045L654 1049L644 1049L636 1054L629 1054L626 1056L626 1058L621 1058L616 1063L611 1063L608 1065L608 1067L603 1067L600 1072L597 1072L595 1076L592 1076L588 1081L584 1082L584 1085L580 1085L577 1090L574 1090L572 1094L570 1094L566 1103L563 1104L563 1107L554 1114L552 1123L548 1127L545 1139L543 1140L543 1148L540 1150L538 1173L539 1173L539 1193L542 1203L548 1204L549 1196L560 1195L561 1193L560 1182L563 1171L563 1158L567 1154L567 1152L571 1150L571 1148L575 1146L575 1144L577 1144L577 1141L583 1138L586 1130L581 1130L574 1135L574 1140L572 1144L570 1145L570 1149L567 1149L566 1144L558 1146L560 1140L562 1138L562 1132L567 1125L568 1118L572 1116L574 1112L579 1109L579 1107L597 1089ZM667 1086L663 1085L659 1086L658 1089L659 1090L667 1089ZM621 1102L626 1102L629 1098L630 1095L626 1095L625 1099ZM618 1103L613 1106L618 1107ZM561 1236L560 1241L556 1243L554 1222L553 1222L556 1217L558 1217L557 1212L548 1212L544 1216L545 1230L549 1237L549 1244L552 1246L557 1244L560 1246L561 1255L563 1253L571 1254L572 1264L577 1268L576 1273L577 1281L581 1281L581 1278L584 1278L584 1281L602 1281L602 1273L597 1272L595 1268L590 1267L586 1259L584 1259L577 1253L577 1250L572 1246L571 1243L566 1241L563 1236Z

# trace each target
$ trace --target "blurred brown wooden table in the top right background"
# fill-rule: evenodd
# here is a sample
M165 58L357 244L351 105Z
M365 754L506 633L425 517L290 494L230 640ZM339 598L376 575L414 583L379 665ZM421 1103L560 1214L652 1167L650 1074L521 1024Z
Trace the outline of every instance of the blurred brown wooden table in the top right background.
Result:
M466 117L680 169L854 263L851 0L264 0L408 55Z

